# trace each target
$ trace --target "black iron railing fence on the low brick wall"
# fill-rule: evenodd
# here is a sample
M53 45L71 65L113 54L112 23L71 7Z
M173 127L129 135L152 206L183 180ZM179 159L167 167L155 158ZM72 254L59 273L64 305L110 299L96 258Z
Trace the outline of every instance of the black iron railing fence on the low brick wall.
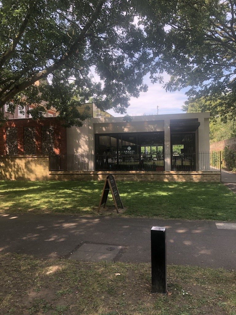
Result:
M220 170L220 152L189 154L50 155L50 171L93 170Z

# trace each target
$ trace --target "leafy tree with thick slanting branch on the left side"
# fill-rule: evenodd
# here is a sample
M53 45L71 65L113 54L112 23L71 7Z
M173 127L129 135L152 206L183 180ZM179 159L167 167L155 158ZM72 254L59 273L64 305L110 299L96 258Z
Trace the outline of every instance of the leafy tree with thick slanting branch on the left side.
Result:
M159 51L170 6L175 2L2 0L0 108L34 103L37 118L46 102L69 127L88 117L77 106L90 97L101 110L126 113L130 97L147 90L143 76L153 61L147 25L155 26Z

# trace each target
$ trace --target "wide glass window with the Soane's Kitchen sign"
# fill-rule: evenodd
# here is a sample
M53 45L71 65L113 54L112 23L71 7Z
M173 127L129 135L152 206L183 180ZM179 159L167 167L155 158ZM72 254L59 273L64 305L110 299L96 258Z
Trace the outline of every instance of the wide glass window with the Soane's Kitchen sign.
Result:
M96 169L164 169L164 132L95 135Z

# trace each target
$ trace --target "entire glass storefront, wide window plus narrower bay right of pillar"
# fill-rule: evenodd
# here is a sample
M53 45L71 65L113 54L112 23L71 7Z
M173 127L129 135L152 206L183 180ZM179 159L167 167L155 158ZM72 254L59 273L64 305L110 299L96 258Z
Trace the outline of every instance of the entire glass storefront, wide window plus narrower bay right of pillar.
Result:
M195 133L171 133L171 169L196 169ZM164 132L95 135L97 170L164 170Z

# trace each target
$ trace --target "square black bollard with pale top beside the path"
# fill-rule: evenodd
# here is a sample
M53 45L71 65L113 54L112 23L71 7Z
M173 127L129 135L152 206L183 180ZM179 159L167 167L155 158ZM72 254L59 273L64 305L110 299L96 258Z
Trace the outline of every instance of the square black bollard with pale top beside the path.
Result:
M151 228L152 293L166 293L166 228Z

